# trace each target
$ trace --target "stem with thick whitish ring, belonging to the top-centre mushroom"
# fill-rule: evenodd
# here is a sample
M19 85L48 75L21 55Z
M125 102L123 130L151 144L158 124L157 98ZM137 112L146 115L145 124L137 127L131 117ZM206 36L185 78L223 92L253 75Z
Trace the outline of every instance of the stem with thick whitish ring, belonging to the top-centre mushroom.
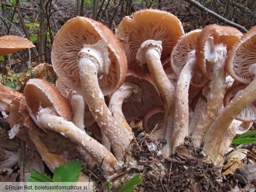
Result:
M171 154L171 139L172 139L172 126L173 126L173 113L174 113L174 95L175 87L165 74L160 56L161 56L161 41L147 40L142 43L137 52L136 58L142 64L147 63L148 69L153 77L161 96L165 102L165 115L163 119L162 129L166 128L165 139L167 144L163 150L164 157Z

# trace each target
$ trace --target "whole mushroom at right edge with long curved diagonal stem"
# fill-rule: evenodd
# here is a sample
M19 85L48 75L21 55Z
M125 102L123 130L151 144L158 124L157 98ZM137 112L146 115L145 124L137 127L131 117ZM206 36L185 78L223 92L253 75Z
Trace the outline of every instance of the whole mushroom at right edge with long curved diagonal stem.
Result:
M226 59L226 68L229 68L229 73L231 71L230 63L233 63L233 71L235 71L235 66L237 66L239 63L239 68L247 68L247 72L245 73L251 73L249 75L251 82L239 94L236 94L231 102L224 107L221 113L214 119L203 138L203 150L205 154L208 155L208 159L213 161L214 164L221 164L223 162L223 155L221 155L222 153L220 151L222 150L221 145L224 140L224 135L227 133L228 126L246 106L250 105L256 99L256 80L252 80L252 77L256 75L255 44L256 27L253 27L234 45L234 47L228 53L228 58ZM249 50L251 52L249 52ZM239 80L244 79L245 73L230 73L230 75L234 79L236 78L236 80L239 82Z

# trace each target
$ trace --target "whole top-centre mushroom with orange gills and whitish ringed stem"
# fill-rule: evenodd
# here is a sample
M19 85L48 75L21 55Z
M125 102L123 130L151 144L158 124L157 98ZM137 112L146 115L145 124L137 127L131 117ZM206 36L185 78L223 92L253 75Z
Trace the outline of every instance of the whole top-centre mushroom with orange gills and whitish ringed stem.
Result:
M149 69L164 99L165 117L162 129L167 145L172 138L175 87L168 80L161 58L169 57L172 48L184 34L182 24L174 15L162 10L140 10L124 17L116 28L116 37L126 52L128 66ZM147 64L147 65L146 65ZM168 148L168 147L167 147ZM170 151L164 150L168 157Z

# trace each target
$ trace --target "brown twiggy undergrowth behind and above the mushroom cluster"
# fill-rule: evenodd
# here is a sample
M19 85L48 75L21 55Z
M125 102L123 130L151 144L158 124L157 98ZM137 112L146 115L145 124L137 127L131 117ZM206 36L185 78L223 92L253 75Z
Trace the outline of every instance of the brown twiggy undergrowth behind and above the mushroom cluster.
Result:
M0 0L0 36L24 36L35 45L30 49L31 61L30 50L1 56L2 78L13 81L28 66L51 63L54 36L70 18L92 17L114 31L124 16L146 8L175 14L185 32L229 21L243 32L256 25L255 0Z

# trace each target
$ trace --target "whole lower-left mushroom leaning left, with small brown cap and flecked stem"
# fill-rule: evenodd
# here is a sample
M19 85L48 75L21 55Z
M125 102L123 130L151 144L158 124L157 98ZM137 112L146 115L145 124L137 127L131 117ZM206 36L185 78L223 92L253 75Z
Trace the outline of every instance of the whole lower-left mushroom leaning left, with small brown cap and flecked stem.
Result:
M114 168L119 166L116 158L104 146L70 122L71 107L52 84L46 80L30 79L24 93L29 112L35 116L39 126L68 137L90 154L98 164L104 160L102 168L107 175L116 172Z

